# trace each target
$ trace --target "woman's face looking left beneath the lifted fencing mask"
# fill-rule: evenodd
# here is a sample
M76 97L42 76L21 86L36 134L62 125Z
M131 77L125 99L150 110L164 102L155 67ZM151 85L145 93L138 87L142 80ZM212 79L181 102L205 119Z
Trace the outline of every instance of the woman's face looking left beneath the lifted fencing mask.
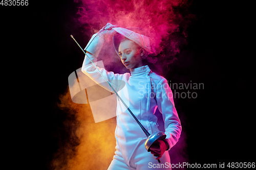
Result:
M129 39L122 41L118 48L118 54L123 65L127 68L137 68L142 66L141 48Z

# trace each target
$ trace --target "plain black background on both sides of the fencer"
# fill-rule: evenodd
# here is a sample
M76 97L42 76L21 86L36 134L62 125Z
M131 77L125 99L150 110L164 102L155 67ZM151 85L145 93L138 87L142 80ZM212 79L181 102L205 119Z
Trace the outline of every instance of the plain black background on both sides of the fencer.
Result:
M198 19L189 26L188 45L168 78L181 75L204 83L197 99L177 101L186 117L191 163L255 161L255 55L249 6L194 1L189 7ZM6 127L15 127L11 133L5 130L15 136L15 149L8 152L25 158L24 165L49 169L58 149L59 139L53 134L66 135L61 129L66 114L56 106L58 96L84 58L70 35L82 46L89 37L79 37L81 30L73 25L73 1L29 1L27 7L1 6L0 11L2 84L14 91L4 97L11 104ZM28 154L30 149L34 152Z

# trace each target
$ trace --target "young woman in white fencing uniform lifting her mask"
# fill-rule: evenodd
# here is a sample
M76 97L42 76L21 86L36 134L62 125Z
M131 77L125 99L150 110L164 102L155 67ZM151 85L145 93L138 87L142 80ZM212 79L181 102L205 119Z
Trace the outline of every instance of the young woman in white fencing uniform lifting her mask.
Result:
M157 117L154 115L158 107L163 115L166 134L166 139L155 141L150 147L151 153L147 152L144 147L146 135L123 103L117 100L116 151L108 169L171 169L168 151L180 137L181 124L166 79L145 65L148 55L154 53L150 39L107 23L84 48L93 62L97 61L104 39L108 36L114 36L115 50L131 74L114 74L103 68L99 70L150 134L159 131ZM83 61L82 72L98 84L104 82L87 57ZM127 90L121 90L123 86ZM104 88L113 92L109 86ZM160 158L161 165L157 165L157 159Z

